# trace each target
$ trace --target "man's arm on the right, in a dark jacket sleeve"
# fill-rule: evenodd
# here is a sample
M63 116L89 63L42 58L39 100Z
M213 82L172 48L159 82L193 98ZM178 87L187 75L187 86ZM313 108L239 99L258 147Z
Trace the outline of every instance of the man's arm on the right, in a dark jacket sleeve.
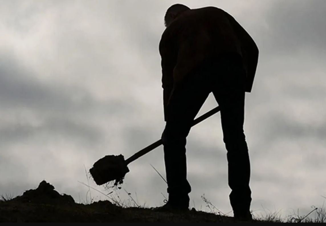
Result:
M251 92L258 64L259 50L255 41L244 30L244 28L230 14L226 13L226 15L241 42L241 52L244 60L244 67L247 73L245 91Z

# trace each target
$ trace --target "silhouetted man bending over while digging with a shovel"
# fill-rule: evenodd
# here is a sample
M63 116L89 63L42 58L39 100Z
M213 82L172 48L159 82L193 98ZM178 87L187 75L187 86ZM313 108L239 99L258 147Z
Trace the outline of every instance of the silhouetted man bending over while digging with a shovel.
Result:
M245 141L244 93L251 92L258 48L235 19L215 7L190 9L172 5L159 52L164 117L162 134L169 200L157 210L189 208L186 137L209 93L221 108L227 149L230 203L234 217L251 219L250 162Z

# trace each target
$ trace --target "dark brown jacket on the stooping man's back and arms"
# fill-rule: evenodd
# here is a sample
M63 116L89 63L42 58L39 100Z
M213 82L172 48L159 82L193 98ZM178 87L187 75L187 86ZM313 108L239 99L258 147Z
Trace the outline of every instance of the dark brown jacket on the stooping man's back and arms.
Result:
M244 28L216 7L190 9L168 26L159 43L163 100L166 107L173 86L208 58L238 54L246 71L245 91L251 92L258 48Z

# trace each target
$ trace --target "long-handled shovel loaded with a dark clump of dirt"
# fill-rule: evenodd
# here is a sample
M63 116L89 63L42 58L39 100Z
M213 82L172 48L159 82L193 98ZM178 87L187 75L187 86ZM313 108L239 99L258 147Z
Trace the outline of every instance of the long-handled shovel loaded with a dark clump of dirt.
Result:
M210 110L209 112L201 115L200 117L196 118L193 122L191 127L200 123L201 121L205 120L206 118L210 117L211 115L220 111L220 107L217 106L216 108ZM139 152L135 153L133 156L127 158L123 155L107 155L99 160L97 160L93 167L89 170L91 173L95 183L97 185L102 185L108 183L112 180L115 180L114 185L122 184L123 179L126 173L129 172L127 165L135 161L137 158L147 154L148 152L152 151L156 147L162 144L162 139L148 145L147 147L141 149Z

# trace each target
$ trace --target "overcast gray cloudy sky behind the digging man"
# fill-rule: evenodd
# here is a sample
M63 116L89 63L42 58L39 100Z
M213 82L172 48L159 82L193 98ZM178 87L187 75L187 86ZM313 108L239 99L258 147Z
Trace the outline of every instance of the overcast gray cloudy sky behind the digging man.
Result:
M254 215L304 214L326 201L325 0L0 1L0 195L45 179L85 202L84 166L160 138L158 43L175 3L224 9L259 47L244 125ZM199 114L216 105L210 96ZM205 194L231 211L222 139L219 113L188 136L191 207L206 210ZM131 163L123 185L148 207L167 196L150 164L165 175L162 146Z

